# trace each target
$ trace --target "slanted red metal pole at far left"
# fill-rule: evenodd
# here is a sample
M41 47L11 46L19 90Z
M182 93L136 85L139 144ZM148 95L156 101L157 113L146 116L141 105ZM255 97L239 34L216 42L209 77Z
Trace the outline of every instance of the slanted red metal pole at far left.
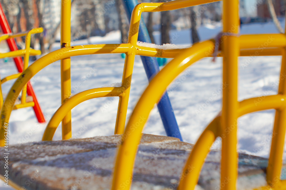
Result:
M1 3L0 3L0 26L1 26L4 34L11 33L11 29L10 29L8 21L5 17L5 14L3 12ZM18 50L16 42L13 38L7 39L6 41L7 41L9 48L10 48L10 51ZM23 60L22 60L22 58L21 57L15 57L13 59L14 59L15 65L17 67L17 70L19 72L23 72ZM27 94L29 96L33 97L33 101L35 103L35 106L33 107L33 109L34 109L35 115L38 119L38 122L40 122L40 123L45 122L43 112L41 111L41 107L38 103L37 97L35 95L35 92L33 90L33 87L31 85L30 81L27 83Z

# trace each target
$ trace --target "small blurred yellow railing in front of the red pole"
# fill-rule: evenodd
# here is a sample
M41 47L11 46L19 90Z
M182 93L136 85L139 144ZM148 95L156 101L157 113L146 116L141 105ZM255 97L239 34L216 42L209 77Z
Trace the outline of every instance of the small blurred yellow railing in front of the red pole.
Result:
M41 33L41 32L43 32L43 28L33 28L27 32L19 32L19 33L15 33L15 34L2 34L2 35L0 35L0 42L2 40L7 40L10 38L25 36L25 49L10 51L7 53L0 53L0 58L23 56L24 57L23 71L26 70L28 68L29 56L41 54L40 50L35 50L35 49L30 48L31 34L37 34L37 33ZM8 80L18 78L19 76L21 76L21 74L22 73L16 73L13 75L9 75L9 76L1 79L1 84L8 81ZM27 84L23 87L23 90L22 90L21 103L15 105L13 107L13 109L19 109L19 108L30 107L30 106L33 107L35 105L35 103L33 101L26 102L26 93L27 93ZM0 108L2 107L2 105L3 105L3 95L2 95L1 85L0 85Z

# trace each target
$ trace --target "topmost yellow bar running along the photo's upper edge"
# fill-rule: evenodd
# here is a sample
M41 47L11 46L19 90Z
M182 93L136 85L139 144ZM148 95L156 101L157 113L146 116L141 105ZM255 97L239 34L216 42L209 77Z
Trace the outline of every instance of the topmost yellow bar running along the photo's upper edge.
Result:
M143 7L143 12L155 12L155 11L170 11L174 9L182 9L185 7L191 7L195 5L202 5L206 3L212 3L220 0L175 0L164 3L141 3L139 6Z

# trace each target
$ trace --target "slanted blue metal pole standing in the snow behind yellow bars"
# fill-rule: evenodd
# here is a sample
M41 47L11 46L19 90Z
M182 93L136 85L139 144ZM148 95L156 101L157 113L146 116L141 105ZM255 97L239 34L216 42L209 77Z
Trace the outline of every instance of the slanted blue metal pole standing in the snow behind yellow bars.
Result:
M122 0L125 12L127 14L127 18L130 22L132 10L134 7L138 4L137 0ZM144 23L143 18L140 20L140 26L139 26L139 34L138 34L138 40L141 42L147 42L151 43L150 36L148 34L148 30L146 28L146 25ZM156 73L158 73L159 65L155 57L147 57L147 56L141 56L141 60L143 62L143 66L146 72L146 75L148 77L148 80L150 81ZM170 99L168 97L168 94L165 93L162 96L162 99L157 104L165 131L167 136L173 136L176 138L179 138L182 141L182 136L172 109L172 105L170 102Z

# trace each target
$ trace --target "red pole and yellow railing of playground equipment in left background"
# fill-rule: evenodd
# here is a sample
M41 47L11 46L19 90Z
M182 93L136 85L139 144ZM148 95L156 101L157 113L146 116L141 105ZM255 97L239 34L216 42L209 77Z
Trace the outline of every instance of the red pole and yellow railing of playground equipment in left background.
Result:
M5 17L5 14L3 12L2 6L0 4L0 26L3 31L3 35L0 36L0 41L1 40L6 40L7 44L10 48L10 52L7 53L1 53L0 58L5 58L5 57L14 57L13 60L15 62L15 65L17 67L17 70L19 73L13 74L10 76L7 76L3 79L1 79L1 84L4 83L5 81L11 80L18 78L23 70L27 69L28 67L28 62L29 62L29 56L31 55L40 55L41 51L40 50L34 50L30 48L30 42L31 42L31 34L36 34L43 32L43 28L34 28L30 31L27 32L21 32L17 34L12 34L10 26L7 22L7 19ZM19 37L19 36L26 36L25 37L25 49L23 50L18 50L16 42L13 38ZM23 60L21 57L24 57L24 64ZM26 93L30 96L28 102L26 102ZM14 97L15 99L18 99L18 97ZM1 91L1 86L0 86L0 108L3 105L3 95ZM25 85L22 91L22 96L21 96L21 103L15 105L13 109L19 109L23 107L33 107L33 110L35 112L35 115L38 119L38 122L45 122L45 118L43 116L43 113L41 111L40 105L37 101L37 97L34 93L33 87L31 83L28 81L28 83Z

